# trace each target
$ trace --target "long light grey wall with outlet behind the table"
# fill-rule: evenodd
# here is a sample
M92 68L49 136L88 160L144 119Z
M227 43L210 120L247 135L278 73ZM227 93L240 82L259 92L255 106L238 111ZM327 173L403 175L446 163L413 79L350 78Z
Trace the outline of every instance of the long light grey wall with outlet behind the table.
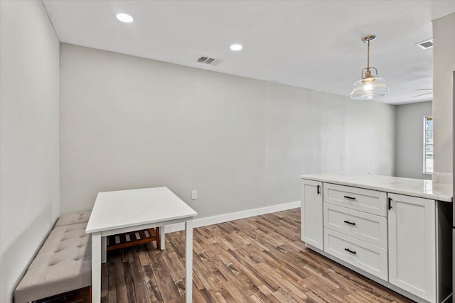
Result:
M60 53L62 213L91 209L97 192L167 186L206 217L297 201L304 173L394 173L395 106L75 45Z

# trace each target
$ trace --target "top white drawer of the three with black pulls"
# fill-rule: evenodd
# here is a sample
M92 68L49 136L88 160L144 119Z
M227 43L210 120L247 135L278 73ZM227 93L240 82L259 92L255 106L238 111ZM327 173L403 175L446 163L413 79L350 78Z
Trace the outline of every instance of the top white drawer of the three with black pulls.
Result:
M387 216L387 193L377 190L324 183L323 201L339 206Z

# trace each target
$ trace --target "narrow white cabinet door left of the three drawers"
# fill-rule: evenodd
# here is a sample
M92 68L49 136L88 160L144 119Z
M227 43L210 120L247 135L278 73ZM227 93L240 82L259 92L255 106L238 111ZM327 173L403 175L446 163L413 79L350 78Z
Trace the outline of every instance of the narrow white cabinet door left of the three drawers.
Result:
M301 183L301 240L311 246L323 246L322 182L302 180Z

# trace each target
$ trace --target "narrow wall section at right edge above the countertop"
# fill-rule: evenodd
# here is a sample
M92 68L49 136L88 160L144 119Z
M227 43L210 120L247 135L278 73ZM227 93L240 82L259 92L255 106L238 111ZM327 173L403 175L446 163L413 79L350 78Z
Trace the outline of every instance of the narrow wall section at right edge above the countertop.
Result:
M434 172L452 173L455 13L433 21Z

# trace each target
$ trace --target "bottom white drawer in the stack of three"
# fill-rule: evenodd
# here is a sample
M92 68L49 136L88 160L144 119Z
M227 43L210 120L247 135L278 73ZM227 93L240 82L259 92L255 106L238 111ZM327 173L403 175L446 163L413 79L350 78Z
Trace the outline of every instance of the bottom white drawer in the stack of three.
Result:
M387 281L387 250L324 228L324 251Z

